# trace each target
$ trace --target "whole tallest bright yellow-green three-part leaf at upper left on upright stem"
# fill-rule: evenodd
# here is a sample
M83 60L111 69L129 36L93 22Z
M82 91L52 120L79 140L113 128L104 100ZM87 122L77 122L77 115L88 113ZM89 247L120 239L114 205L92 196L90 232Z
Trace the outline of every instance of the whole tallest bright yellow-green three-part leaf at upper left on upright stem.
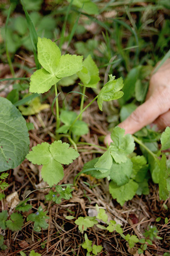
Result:
M38 60L42 69L31 76L30 92L44 93L61 78L82 69L83 56L61 55L59 47L47 38L38 37Z

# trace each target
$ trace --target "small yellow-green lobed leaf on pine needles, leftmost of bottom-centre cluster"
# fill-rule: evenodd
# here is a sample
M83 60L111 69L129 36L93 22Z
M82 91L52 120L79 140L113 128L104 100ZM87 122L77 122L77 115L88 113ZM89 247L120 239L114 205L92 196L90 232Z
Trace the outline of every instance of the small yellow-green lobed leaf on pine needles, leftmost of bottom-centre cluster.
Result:
M87 228L93 227L95 224L97 224L98 221L95 220L95 217L78 217L78 219L75 221L75 224L78 225L78 229L80 232L84 232L87 230Z

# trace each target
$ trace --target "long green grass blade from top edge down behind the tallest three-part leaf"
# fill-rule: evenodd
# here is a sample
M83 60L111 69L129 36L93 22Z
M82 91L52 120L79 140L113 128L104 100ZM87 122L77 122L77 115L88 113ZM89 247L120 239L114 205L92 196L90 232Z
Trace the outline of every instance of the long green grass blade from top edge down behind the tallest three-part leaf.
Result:
M27 22L27 25L28 25L28 29L29 29L30 37L31 37L31 42L32 42L32 45L33 45L35 64L36 64L36 68L38 70L38 69L41 69L41 65L40 65L40 63L38 61L38 57L37 57L38 35L36 33L33 21L30 18L30 16L29 16L29 14L28 14L28 12L27 12L27 10L26 10L22 0L21 0L21 4L23 6L23 9L24 9L24 12L25 12L25 15L26 15L26 22Z

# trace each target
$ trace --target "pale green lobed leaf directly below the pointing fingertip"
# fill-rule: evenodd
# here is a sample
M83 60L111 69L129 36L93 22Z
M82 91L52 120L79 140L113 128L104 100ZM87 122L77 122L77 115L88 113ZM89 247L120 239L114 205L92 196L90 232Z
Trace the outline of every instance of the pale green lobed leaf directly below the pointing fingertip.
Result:
M132 153L135 149L134 139L131 134L125 134L125 130L116 126L111 132L110 153L115 162L125 163L127 155Z

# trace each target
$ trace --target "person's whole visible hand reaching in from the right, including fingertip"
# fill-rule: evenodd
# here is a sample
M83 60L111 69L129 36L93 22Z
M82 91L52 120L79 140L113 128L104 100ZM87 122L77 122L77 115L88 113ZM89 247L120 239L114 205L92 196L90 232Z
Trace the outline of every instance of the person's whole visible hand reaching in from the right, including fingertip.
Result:
M145 102L118 126L125 129L125 134L133 134L148 124L157 124L161 130L170 126L170 59L153 71ZM104 143L110 145L110 142L109 133Z

